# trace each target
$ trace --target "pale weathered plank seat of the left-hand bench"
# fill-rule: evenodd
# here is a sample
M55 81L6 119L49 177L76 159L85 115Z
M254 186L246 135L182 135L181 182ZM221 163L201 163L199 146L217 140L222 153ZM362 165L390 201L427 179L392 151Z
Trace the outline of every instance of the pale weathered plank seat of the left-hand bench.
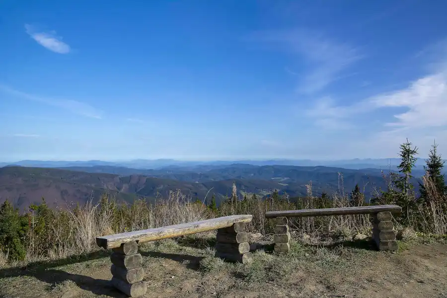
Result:
M108 236L96 237L96 244L104 249L119 247L121 243L137 241L144 243L149 241L172 238L182 235L195 234L209 230L231 226L234 223L249 223L251 215L232 215L217 219L204 220L194 223L175 224L146 230L126 232Z

